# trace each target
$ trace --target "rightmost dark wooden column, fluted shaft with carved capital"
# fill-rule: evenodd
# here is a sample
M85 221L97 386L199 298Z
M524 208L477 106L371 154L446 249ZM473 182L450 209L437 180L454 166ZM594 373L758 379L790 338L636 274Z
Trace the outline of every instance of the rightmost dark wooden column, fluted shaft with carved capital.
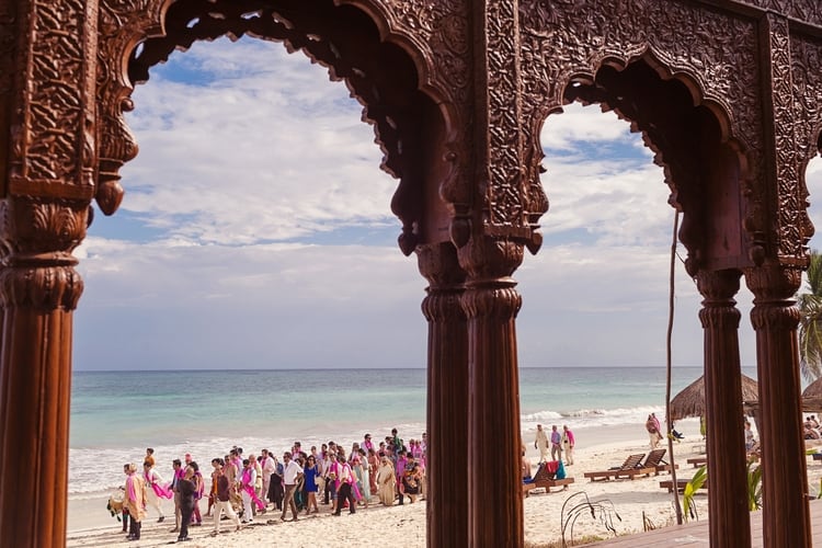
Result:
M799 309L794 296L798 267L766 265L745 272L754 294L760 380L760 444L763 481L763 546L810 547L808 478L799 384Z

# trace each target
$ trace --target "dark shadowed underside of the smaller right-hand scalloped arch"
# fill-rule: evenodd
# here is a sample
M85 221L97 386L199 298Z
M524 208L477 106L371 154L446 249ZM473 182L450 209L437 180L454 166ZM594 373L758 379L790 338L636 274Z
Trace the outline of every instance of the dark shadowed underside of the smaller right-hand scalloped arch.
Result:
M745 146L731 136L724 107L706 100L695 79L672 73L652 52L627 65L621 59L604 59L593 76L571 75L562 101L600 103L603 110L628 121L632 132L641 133L643 142L654 152L654 163L663 168L664 182L671 189L669 203L684 214L680 239L688 250L686 270L693 276L700 267L716 267L716 260L708 264L711 253L705 249L711 239L706 232L717 216L717 212L707 209L720 207L711 205L710 193L717 193L712 189L717 181L711 181L709 165L716 169L730 162L739 170L739 180L752 179ZM538 127L536 135L545 121L533 121ZM733 185L737 181L718 182ZM739 189L730 191L743 198ZM741 218L735 227L733 232L742 231ZM739 244L742 259L733 259L734 266L740 260L746 261L742 242Z

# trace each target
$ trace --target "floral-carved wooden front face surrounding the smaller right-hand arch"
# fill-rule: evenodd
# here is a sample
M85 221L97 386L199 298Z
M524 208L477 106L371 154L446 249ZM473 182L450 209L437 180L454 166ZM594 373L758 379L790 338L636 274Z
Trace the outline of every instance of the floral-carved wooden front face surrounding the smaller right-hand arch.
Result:
M561 109L567 85L578 79L593 81L605 64L626 67L650 57L666 78L685 80L698 103L724 113L724 134L740 142L747 157L743 195L749 209L764 210L764 190L754 184L763 152L756 21L694 2L657 0L523 0L520 21L532 201L539 199L538 132L548 114ZM664 165L661 152L658 162ZM687 192L672 190L675 201ZM765 222L763 215L751 219L749 239Z

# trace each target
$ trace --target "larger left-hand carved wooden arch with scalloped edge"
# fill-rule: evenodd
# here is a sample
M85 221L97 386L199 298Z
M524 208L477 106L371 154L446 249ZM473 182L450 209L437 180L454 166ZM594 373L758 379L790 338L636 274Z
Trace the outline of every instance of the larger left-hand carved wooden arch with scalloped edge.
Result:
M289 53L302 50L312 62L327 67L332 80L343 80L363 104L363 119L374 125L384 152L381 168L400 179L391 207L402 220L403 253L432 239L420 233L425 192L450 202L460 197L467 202L470 196L469 191L455 190L467 184L459 176L465 169L458 169L455 153L465 142L467 125L463 122L468 85L466 18L454 16L447 8L414 12L408 5L376 0L323 0L311 5L296 0L148 0L127 8L104 1L100 13L101 150L95 198L107 215L123 196L118 170L137 153L123 117L134 107L133 84L148 80L149 68L167 60L174 49L187 49L199 39L237 39L244 34L282 42ZM450 46L443 48L445 43ZM432 52L437 47L435 58ZM447 140L441 144L442 153L423 159L421 142L432 133ZM442 167L435 170L446 175L423 189L424 179L432 175L422 170L437 162Z

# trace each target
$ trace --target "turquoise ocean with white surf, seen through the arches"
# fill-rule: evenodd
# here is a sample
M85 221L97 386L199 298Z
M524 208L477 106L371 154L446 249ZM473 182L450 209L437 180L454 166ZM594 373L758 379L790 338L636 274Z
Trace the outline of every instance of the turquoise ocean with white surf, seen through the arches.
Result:
M672 397L701 367L673 369ZM756 377L756 369L743 367ZM282 454L334 441L351 447L366 432L397 427L408 442L425 431L425 369L75 372L69 496L123 482L123 464L153 447L158 470L191 453L208 463L237 445ZM522 430L568 424L576 435L664 415L665 369L548 367L520 369ZM582 432L578 432L582 431Z

